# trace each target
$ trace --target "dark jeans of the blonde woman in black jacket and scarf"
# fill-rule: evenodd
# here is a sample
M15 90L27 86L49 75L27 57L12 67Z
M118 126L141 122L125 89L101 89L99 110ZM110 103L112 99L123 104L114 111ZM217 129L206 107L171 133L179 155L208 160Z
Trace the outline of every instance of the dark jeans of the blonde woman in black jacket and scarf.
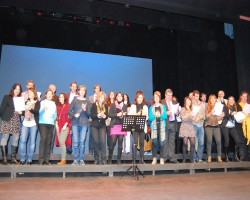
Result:
M106 127L91 127L91 133L94 139L95 160L106 161Z

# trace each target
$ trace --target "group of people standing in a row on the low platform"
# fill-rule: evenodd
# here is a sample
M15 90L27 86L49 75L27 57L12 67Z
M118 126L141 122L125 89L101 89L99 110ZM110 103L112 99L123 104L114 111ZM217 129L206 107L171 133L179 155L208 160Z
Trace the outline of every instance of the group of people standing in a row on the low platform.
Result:
M217 145L217 161L222 162L222 144L225 161L229 161L229 136L232 136L234 141L234 160L249 159L250 114L243 113L245 117L242 120L235 120L235 115L244 111L244 106L249 104L249 94L246 91L241 93L238 102L232 96L224 99L223 91L218 92L218 97L211 94L206 102L206 94L200 95L199 91L194 90L185 97L184 105L181 107L171 89L166 89L164 99L159 91L155 91L150 103L146 102L140 90L130 103L127 94L122 92L115 94L111 91L106 95L101 91L99 84L94 86L94 94L88 98L86 86L78 85L77 82L70 83L69 94L62 92L59 96L56 95L56 86L50 84L43 100L35 89L34 81L28 80L26 89L22 92L21 85L15 83L1 103L0 148L4 165L8 164L10 135L12 135L11 162L32 164L38 130L40 165L50 164L54 133L61 151L59 165L66 164L67 146L71 145L74 156L72 165L85 165L86 145L88 149L93 148L94 164L112 164L117 141L117 164L121 164L122 152L130 152L130 132L122 131L123 118L126 115L146 116L144 130L135 131L135 141L133 141L140 147L141 164L145 163L144 138L148 132L148 124L151 128L153 165L157 164L158 153L160 164L163 165L167 160L178 163L175 156L176 134L183 141L182 162L187 162L188 159L191 163L205 162L203 158L205 140L206 161L211 162L213 137ZM15 105L18 97L23 97L25 101L25 107L20 111L16 110ZM221 104L219 114L215 108L218 103ZM108 145L108 158L106 158L106 145ZM18 147L20 162L16 158Z

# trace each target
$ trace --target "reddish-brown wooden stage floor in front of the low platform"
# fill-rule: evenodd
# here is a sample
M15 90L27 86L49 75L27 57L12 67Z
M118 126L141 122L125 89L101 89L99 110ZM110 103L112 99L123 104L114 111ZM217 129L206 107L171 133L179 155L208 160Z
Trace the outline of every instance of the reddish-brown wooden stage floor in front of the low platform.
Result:
M0 199L6 200L248 200L250 171L206 172L190 175L61 176L0 178Z

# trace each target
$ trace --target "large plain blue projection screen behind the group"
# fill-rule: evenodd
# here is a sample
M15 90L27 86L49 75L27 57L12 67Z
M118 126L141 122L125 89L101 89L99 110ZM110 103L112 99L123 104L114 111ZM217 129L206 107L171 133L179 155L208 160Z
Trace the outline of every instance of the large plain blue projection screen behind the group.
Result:
M148 101L152 98L151 59L12 45L2 45L0 59L1 100L15 82L26 90L29 79L35 81L42 94L50 83L56 85L57 95L68 93L69 84L76 81L86 85L87 96L93 94L94 85L99 83L107 95L111 90L127 93L131 103L137 90L142 90ZM38 134L36 153L39 141ZM54 146L53 153L59 152Z

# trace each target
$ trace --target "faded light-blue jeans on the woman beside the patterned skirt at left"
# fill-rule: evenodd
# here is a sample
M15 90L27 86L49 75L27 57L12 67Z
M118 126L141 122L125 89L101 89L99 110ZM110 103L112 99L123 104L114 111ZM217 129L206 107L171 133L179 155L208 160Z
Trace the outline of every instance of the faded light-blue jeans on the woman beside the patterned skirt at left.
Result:
M36 146L36 135L37 135L37 126L32 126L32 127L22 126L20 143L19 143L20 161L24 162L26 160L26 150L27 150L28 162L32 162ZM29 142L27 141L28 138L30 139ZM28 148L27 144L29 145Z

